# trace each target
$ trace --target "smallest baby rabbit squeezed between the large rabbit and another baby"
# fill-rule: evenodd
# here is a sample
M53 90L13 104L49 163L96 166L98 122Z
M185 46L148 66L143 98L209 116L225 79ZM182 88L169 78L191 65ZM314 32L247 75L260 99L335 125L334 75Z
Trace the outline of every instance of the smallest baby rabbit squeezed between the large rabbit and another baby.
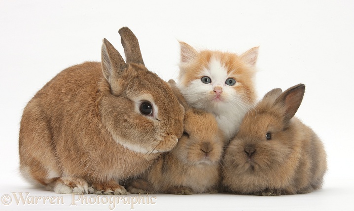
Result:
M224 136L215 117L188 106L173 80L179 101L185 107L184 132L177 146L158 158L144 178L135 180L131 193L216 193L220 184L220 160Z

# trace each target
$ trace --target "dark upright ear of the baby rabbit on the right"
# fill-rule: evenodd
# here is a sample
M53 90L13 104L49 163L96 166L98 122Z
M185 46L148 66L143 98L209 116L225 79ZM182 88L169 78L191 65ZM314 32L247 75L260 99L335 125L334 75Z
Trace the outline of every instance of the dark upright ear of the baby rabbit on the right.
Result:
M300 107L304 94L305 85L300 83L285 90L275 101L275 105L284 108L283 121L285 124L295 115L297 109Z

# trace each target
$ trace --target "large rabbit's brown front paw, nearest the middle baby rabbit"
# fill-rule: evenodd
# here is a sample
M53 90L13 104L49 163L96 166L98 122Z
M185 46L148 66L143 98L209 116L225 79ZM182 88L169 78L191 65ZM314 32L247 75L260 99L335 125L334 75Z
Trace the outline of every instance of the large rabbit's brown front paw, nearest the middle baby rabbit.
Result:
M127 190L116 181L111 180L106 183L92 183L89 188L90 193L103 195L126 195Z

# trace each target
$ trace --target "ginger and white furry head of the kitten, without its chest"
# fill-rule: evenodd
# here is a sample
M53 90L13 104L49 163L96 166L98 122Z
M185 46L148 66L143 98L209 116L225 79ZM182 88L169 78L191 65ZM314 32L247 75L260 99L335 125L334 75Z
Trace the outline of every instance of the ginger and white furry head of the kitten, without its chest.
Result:
M183 93L188 103L198 105L198 100L204 98L218 107L220 103L235 100L242 104L252 105L255 99L253 76L257 60L258 47L251 48L238 56L234 53L203 50L197 52L185 42L180 42L181 61L178 84L180 87L189 87L198 95L194 100L190 94ZM204 76L209 77L210 83L202 82ZM235 84L227 82L235 79ZM209 82L209 81L205 81ZM203 96L202 96L203 94ZM233 95L238 95L233 96ZM200 107L200 106L196 106ZM211 108L212 109L212 108ZM207 108L207 110L211 111Z

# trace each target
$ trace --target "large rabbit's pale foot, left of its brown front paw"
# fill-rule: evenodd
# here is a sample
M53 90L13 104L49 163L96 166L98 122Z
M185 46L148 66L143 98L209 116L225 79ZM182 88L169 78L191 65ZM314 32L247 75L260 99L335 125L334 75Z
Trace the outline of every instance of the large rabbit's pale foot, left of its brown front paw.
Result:
M60 177L56 181L47 184L47 188L62 194L88 194L89 187L82 178Z

